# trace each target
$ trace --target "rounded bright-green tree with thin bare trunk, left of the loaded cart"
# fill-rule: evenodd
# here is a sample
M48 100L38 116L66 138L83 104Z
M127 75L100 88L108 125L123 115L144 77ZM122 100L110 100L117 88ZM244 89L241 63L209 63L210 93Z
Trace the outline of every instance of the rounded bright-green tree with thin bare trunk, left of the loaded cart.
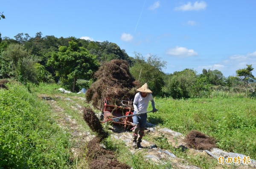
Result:
M89 54L87 49L79 47L74 41L69 42L69 46L60 46L58 52L53 52L48 59L47 65L56 69L56 75L61 80L73 79L73 92L76 81L79 78L90 79L99 67L96 56Z

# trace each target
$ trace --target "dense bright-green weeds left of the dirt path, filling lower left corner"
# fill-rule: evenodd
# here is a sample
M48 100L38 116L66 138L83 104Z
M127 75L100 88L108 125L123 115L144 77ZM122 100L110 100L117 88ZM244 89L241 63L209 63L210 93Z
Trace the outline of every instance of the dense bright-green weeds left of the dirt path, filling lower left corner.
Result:
M0 169L71 168L69 137L17 83L0 89Z

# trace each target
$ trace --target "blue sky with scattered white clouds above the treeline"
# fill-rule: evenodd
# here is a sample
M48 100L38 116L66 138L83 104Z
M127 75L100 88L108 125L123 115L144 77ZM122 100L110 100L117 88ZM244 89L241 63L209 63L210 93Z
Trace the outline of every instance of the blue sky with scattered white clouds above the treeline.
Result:
M0 12L2 37L108 40L131 57L160 57L166 73L228 77L252 64L256 76L256 0L0 0Z

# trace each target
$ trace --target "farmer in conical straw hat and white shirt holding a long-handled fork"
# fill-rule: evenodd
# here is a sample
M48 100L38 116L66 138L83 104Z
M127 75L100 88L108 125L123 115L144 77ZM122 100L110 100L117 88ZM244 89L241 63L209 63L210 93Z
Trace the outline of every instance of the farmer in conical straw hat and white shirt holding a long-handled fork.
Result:
M151 105L153 107L153 112L156 112L157 109L155 108L154 105L154 99L151 95L151 90L148 89L148 84L145 83L143 86L141 86L139 89L137 89L137 91L139 91L135 97L134 97L134 114L137 113L143 113L143 112L147 112L147 108L148 108L148 102L151 101ZM142 115L135 115L133 116L133 141L132 141L132 146L133 147L138 147L138 148L143 148L143 146L140 145L141 141L142 141L142 137L144 135L144 130L145 130L145 126L147 123L147 113L142 114ZM138 138L139 135L139 138ZM138 141L137 141L138 138Z

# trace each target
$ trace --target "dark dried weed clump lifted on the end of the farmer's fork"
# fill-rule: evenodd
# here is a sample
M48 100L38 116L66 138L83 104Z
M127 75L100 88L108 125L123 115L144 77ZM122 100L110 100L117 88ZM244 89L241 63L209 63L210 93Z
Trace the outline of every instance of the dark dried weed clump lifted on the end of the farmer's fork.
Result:
M100 138L100 140L103 140L108 137L108 132L106 132L102 128L102 124L99 121L96 114L93 112L91 108L84 108L84 121L87 123L87 125L90 127L90 129L93 132L96 132L97 136Z

